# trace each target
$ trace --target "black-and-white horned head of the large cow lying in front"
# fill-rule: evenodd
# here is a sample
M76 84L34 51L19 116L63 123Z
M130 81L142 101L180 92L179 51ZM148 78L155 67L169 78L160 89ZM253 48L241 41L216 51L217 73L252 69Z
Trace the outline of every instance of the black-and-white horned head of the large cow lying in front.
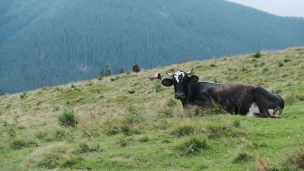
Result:
M198 81L198 76L196 75L191 75L188 76L193 70L193 67L190 71L184 72L182 70L179 70L174 73L169 73L166 71L166 73L169 76L172 76L172 78L165 78L161 81L162 85L164 86L171 86L174 85L174 90L175 90L175 98L184 100L186 98L186 93L188 92L189 84L195 83Z

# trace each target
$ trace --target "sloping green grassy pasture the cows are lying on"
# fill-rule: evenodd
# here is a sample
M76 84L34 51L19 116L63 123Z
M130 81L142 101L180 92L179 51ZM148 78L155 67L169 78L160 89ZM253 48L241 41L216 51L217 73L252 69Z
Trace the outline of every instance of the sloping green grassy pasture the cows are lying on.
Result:
M148 80L157 71L165 76L191 66L200 80L260 84L281 94L282 118L183 110L172 87ZM304 48L122 73L0 96L0 168L303 168L303 113Z

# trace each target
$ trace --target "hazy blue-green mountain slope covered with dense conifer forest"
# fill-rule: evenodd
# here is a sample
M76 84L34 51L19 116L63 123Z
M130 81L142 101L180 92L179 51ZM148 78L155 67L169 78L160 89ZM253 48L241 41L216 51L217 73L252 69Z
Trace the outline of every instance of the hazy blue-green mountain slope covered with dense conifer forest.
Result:
M303 30L224 0L0 0L0 90L304 45Z

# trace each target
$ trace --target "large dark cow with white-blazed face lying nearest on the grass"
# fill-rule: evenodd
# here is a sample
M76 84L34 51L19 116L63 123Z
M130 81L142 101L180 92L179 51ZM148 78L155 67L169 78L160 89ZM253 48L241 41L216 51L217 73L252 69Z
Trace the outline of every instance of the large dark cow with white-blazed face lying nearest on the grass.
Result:
M246 83L214 83L198 81L198 76L178 70L166 73L172 78L164 78L164 86L174 86L174 97L179 99L183 107L194 104L202 107L220 104L228 112L246 116L280 118L284 108L284 100L259 85ZM275 112L279 109L279 113Z

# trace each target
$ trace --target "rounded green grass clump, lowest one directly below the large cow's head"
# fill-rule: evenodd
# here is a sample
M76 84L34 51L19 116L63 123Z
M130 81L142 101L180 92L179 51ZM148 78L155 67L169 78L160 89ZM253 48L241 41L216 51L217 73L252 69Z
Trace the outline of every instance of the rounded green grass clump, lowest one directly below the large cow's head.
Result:
M186 137L186 139L177 146L183 151L183 154L199 152L202 149L207 148L207 139L198 135L192 135Z

